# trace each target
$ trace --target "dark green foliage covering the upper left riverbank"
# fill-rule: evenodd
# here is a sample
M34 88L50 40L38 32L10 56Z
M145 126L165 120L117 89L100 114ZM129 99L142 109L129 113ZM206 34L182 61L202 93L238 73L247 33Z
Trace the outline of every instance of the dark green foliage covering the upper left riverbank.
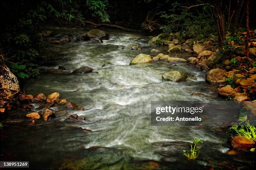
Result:
M30 6L29 4L30 10L23 7L23 5L28 5L23 1L14 3L15 6L19 6L20 16L14 15L15 20L10 20L11 24L3 26L0 49L5 57L4 64L20 78L36 77L39 72L34 64L43 58L38 50L44 47L43 39L37 36L38 32L41 32L44 24L49 22L65 26L74 23L84 24L82 12L79 10L81 2L43 0L36 3L37 5ZM86 4L82 5L89 9L93 16L100 18L103 22L109 22L109 16L106 13L107 0L87 0ZM10 15L13 15L12 13Z

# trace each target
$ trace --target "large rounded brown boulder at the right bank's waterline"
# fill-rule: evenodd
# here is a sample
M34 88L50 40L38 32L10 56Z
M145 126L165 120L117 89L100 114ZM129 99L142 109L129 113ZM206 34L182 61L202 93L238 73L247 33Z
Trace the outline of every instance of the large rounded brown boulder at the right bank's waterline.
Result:
M210 83L225 82L227 73L219 68L210 70L205 75L205 81Z

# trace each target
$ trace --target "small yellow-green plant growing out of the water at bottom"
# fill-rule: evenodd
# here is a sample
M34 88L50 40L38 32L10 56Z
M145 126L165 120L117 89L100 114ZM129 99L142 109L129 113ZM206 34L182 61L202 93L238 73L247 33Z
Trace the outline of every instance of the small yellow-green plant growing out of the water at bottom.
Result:
M195 160L200 154L200 149L202 148L200 144L202 143L202 140L194 138L194 142L190 145L190 150L183 150L183 155Z

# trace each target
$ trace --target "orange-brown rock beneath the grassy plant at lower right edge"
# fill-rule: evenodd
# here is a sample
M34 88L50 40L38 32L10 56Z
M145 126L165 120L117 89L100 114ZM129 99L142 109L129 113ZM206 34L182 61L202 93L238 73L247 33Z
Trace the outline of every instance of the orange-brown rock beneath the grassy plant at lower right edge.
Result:
M252 140L246 139L243 136L235 136L231 140L231 145L233 146L233 148L251 149L255 145L255 142L253 142Z

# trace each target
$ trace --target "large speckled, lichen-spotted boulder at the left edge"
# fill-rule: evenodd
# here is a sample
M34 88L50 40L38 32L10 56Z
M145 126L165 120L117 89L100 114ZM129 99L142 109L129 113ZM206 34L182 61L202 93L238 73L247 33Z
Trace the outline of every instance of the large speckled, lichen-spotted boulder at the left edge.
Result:
M17 77L5 65L0 65L0 99L11 97L20 90Z

